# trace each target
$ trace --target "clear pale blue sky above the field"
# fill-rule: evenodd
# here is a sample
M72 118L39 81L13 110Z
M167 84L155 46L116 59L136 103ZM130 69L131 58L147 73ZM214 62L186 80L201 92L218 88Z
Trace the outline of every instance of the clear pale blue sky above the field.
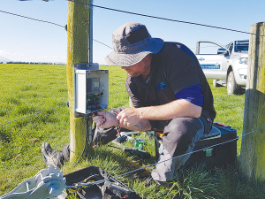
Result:
M264 21L265 16L265 0L94 0L93 4L243 32L250 32L250 27ZM67 0L0 0L0 62L10 60L66 63L67 33L64 26L67 24L67 10ZM62 27L3 11L49 21ZM182 42L193 51L199 40L226 45L233 40L249 39L249 34L152 19L97 7L94 7L93 12L93 37L110 47L112 33L117 27L130 21L146 25L152 37L162 38L165 42ZM93 61L106 65L104 57L112 49L99 42L93 42Z

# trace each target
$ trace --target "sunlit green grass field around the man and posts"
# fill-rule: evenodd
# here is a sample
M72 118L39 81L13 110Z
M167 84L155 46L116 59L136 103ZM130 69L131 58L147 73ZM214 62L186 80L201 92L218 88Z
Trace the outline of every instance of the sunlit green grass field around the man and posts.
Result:
M110 71L109 107L128 106L126 73L119 67L101 66ZM50 142L62 149L69 141L69 111L65 65L0 65L0 195L45 168L41 144ZM209 84L212 81L209 80ZM227 96L226 88L212 88L216 120L242 134L245 95ZM100 166L113 176L155 163L153 140L145 134L152 158L140 160L107 146L91 149L78 165L67 163L64 174L89 165ZM241 139L238 141L238 156ZM118 180L143 198L265 198L265 186L246 185L238 165L208 170L204 165L178 171L170 188L155 184L145 188L145 179L153 167ZM72 196L72 198L75 198Z

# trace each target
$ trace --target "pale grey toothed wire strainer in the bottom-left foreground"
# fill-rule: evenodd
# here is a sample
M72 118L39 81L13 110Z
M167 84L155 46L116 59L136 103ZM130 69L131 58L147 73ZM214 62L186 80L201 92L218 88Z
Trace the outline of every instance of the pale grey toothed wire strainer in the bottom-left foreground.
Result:
M58 167L42 169L33 178L24 180L18 187L0 199L46 199L55 198L64 191L66 180Z

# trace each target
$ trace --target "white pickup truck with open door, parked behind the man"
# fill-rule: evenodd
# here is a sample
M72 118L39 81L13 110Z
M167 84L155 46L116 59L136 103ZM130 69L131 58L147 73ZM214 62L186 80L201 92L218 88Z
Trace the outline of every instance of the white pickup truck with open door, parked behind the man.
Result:
M196 57L207 79L214 87L221 82L227 94L241 94L246 87L248 40L233 41L226 46L217 42L198 41ZM223 83L222 83L223 82Z

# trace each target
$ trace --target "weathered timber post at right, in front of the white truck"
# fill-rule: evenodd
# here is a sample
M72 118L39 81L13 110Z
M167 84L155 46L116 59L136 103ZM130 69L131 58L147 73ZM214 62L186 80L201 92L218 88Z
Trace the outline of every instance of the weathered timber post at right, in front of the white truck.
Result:
M246 180L259 183L265 181L265 22L252 25L251 33L242 134L259 130L243 137L239 163Z

